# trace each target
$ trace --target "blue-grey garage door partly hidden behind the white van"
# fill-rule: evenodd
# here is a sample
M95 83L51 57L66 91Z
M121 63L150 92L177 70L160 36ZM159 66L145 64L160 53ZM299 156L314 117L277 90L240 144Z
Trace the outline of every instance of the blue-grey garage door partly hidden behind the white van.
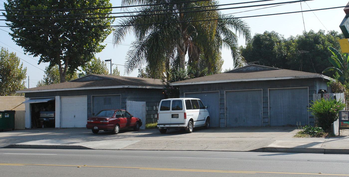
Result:
M201 99L202 103L208 106L207 110L210 113L210 127L220 127L218 91L185 93L185 97Z

